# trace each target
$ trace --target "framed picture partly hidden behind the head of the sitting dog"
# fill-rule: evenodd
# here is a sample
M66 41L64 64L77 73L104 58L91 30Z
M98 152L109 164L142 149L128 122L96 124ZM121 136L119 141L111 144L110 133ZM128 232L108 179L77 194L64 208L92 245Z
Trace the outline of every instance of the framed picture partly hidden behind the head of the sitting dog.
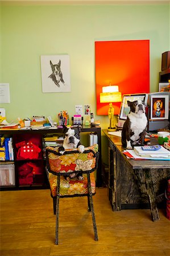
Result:
M127 115L130 112L130 107L127 104L127 101L136 101L136 100L142 100L147 105L148 100L148 94L141 93L141 94L124 94L122 98L122 104L121 104L121 111L119 119L127 119Z

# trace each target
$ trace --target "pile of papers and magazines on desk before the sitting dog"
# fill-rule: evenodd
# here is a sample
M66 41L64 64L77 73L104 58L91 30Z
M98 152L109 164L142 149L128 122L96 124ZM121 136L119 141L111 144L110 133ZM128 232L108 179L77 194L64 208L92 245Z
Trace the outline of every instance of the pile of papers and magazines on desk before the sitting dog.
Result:
M132 159L150 159L150 160L170 160L170 151L160 146L159 150L143 150L142 146L134 147L134 150L123 152L127 158Z

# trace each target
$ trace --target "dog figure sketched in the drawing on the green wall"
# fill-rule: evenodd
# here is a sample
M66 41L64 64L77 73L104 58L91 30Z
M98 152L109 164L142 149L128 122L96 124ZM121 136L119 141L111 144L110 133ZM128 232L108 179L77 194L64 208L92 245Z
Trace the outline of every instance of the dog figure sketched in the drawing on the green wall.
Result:
M59 60L58 64L52 64L52 62L49 62L51 65L51 69L52 69L52 74L49 76L49 78L52 79L53 82L55 82L55 84L60 87L59 82L63 82L64 84L64 80L63 80L63 73L61 72L61 60Z

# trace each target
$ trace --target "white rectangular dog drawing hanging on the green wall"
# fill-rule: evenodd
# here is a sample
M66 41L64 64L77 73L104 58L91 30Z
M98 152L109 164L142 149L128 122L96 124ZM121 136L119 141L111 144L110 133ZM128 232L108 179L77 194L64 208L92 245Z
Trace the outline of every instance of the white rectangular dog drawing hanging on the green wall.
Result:
M40 59L43 92L71 92L69 55L42 55Z

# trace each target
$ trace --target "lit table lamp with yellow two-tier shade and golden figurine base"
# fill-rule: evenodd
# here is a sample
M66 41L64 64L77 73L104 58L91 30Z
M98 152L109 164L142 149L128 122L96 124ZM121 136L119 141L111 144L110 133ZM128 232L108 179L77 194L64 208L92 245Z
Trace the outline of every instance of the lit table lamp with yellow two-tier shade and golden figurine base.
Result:
M114 123L114 108L112 102L121 102L122 101L122 93L119 92L118 85L109 85L102 87L102 93L99 94L99 99L101 103L109 103L108 116L110 119L108 131L115 130Z

